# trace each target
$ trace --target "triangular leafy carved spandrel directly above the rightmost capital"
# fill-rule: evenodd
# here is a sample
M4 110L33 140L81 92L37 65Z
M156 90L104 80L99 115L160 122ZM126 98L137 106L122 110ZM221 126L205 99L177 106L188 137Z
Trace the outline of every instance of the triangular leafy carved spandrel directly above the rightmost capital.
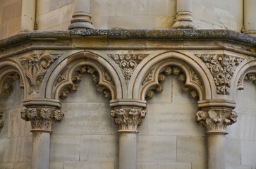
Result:
M217 94L229 95L233 73L244 58L226 54L195 54L195 56L201 58L212 73Z

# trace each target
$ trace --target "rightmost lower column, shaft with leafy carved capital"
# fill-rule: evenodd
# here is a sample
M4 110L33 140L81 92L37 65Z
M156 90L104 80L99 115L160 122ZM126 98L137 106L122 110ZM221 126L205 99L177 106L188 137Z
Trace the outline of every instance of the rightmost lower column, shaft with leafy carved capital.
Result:
M197 121L206 127L207 168L226 168L226 127L236 123L236 112L231 108L202 108L197 112Z

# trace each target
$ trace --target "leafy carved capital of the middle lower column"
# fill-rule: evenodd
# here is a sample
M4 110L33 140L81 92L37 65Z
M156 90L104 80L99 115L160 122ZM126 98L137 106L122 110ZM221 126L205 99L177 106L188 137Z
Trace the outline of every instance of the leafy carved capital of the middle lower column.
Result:
M111 111L114 122L119 125L120 130L137 131L137 126L142 125L142 118L145 118L147 111L142 108L116 108Z

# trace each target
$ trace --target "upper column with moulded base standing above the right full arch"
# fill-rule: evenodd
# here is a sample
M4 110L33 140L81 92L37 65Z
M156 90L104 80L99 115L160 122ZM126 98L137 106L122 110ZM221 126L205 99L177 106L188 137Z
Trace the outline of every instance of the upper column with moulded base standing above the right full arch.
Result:
M177 0L177 13L171 29L195 29L192 9L193 0Z

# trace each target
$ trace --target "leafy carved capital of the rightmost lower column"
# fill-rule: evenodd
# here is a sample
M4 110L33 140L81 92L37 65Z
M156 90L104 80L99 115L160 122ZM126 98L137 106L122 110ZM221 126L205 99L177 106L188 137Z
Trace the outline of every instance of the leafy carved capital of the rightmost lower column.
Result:
M205 126L206 133L227 134L226 127L236 123L236 112L228 108L212 108L197 112L197 122Z

